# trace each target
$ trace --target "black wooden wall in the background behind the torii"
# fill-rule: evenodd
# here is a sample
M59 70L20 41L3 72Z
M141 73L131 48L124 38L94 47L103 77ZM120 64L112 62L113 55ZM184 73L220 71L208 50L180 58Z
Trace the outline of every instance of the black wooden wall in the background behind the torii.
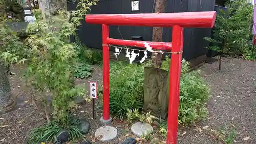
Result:
M154 12L155 0L139 0L139 11L132 11L131 0L101 0L97 6L92 7L90 14L129 14ZM75 3L68 3L68 10L74 10ZM214 11L215 0L167 0L165 12L194 12ZM110 26L110 37L118 39L131 39L133 35L140 35L143 40L152 41L152 27ZM209 28L185 28L183 57L193 59L207 53L209 45L203 37L209 37ZM101 25L92 25L82 22L77 31L82 44L102 49ZM163 41L172 42L172 28L163 29Z

